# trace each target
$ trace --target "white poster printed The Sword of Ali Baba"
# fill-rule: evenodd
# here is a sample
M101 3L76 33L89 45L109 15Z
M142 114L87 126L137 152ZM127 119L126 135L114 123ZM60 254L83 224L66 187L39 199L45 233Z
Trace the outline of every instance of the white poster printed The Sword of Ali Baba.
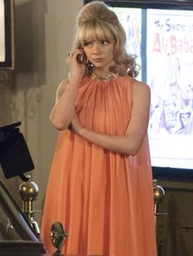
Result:
M193 168L192 11L147 10L146 60L152 165Z

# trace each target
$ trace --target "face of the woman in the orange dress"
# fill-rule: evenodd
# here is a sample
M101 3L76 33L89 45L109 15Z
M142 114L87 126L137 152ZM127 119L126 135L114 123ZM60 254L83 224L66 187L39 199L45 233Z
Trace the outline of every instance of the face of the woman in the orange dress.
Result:
M109 73L110 65L114 65L114 42L107 39L91 38L84 43L83 47L88 61L95 67L99 74Z

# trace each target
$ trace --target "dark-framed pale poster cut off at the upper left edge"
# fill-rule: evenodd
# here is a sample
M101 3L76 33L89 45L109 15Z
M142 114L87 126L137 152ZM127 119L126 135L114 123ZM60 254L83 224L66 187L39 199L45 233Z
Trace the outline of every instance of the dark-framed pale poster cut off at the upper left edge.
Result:
M0 0L0 69L14 65L14 0Z

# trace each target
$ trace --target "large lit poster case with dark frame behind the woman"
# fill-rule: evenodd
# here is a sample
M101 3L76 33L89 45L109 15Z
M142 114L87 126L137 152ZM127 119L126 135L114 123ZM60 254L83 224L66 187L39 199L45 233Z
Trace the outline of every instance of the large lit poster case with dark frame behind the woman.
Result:
M148 137L154 177L192 180L193 1L105 3L125 29L126 50L137 55L137 79L150 86Z

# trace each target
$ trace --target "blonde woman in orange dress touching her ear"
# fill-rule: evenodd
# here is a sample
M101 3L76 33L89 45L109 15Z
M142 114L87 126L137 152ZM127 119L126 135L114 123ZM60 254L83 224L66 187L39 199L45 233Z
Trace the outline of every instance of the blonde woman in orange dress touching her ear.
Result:
M153 187L146 131L150 89L138 82L126 36L104 2L79 12L70 78L50 119L61 130L43 211L42 237L69 233L66 256L156 256Z

